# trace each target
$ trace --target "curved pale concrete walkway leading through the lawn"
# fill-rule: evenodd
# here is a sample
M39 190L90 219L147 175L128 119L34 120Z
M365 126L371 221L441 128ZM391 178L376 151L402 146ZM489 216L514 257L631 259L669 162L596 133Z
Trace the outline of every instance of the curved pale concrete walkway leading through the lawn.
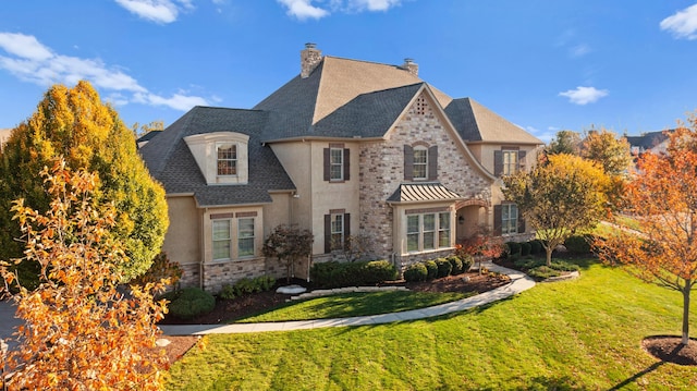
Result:
M425 319L463 311L469 308L498 302L535 286L535 281L521 271L504 268L492 262L482 262L482 267L491 271L509 276L511 278L511 283L478 294L476 296L458 300L456 302L444 303L420 309L405 310L401 313L357 316L351 318L296 320L265 323L162 325L160 326L160 330L162 330L162 333L164 335L204 335L265 331L309 330L326 327L383 325L395 321Z

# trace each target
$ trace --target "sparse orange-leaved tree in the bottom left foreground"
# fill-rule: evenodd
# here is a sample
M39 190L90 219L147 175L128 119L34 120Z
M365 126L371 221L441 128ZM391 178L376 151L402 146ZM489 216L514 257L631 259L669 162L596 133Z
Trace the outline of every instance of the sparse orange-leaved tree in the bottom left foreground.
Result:
M164 303L161 283L118 289L127 260L111 232L113 204L94 198L95 174L71 171L62 160L41 171L49 207L40 212L14 201L26 245L17 262L39 265L40 284L27 290L0 266L19 293L19 346L9 354L10 390L156 390L166 357L154 350Z

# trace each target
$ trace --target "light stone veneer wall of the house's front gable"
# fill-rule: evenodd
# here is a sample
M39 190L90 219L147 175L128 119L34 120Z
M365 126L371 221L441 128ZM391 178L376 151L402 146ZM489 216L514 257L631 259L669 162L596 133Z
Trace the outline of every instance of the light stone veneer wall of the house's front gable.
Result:
M491 194L491 183L472 167L455 143L452 132L445 130L425 94L418 97L388 139L363 143L359 151L359 205L362 232L375 240L376 255L390 259L393 253L393 210L387 199L404 181L404 145L416 142L438 145L438 179L449 190L465 198L476 198L482 192ZM426 258L436 257L433 253ZM418 255L408 256L417 259ZM411 260L409 260L411 262Z

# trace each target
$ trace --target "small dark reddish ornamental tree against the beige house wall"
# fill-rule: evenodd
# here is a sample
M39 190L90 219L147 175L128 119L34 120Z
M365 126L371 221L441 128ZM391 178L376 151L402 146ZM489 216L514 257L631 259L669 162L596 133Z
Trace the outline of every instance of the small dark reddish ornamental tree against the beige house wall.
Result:
M281 224L264 241L262 252L264 256L285 261L285 279L290 282L294 276L295 261L313 254L313 242L315 236L310 231L301 230L297 225Z

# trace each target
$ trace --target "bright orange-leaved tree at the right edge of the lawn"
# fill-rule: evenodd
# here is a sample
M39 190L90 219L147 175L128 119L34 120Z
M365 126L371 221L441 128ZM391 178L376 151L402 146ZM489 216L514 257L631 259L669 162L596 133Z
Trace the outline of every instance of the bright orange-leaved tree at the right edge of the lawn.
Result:
M626 187L625 212L639 224L596 242L600 258L683 295L682 344L689 342L689 293L697 282L697 114L670 136L668 151L644 154ZM635 227L636 229L636 227Z

